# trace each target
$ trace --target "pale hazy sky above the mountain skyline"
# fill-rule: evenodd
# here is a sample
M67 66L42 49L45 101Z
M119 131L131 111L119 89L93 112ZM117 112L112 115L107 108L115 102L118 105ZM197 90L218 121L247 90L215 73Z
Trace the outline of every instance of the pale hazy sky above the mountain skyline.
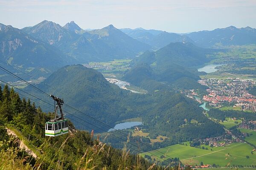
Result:
M43 20L176 33L231 25L256 28L256 0L0 0L0 23L23 28Z

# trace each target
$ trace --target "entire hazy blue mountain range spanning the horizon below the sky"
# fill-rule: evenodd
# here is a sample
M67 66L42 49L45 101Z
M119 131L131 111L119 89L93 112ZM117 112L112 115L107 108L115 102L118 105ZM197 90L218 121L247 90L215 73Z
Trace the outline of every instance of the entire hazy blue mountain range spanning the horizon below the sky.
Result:
M154 58L157 58L158 54L165 51L164 49L170 48L172 45L169 44L173 42L190 43L204 48L220 45L223 47L223 45L256 44L256 29L230 26L213 31L175 34L143 28L117 29L113 25L102 29L84 30L74 21L60 26L57 23L44 20L35 26L23 29L0 24L1 61L37 77L48 75L67 64L127 58L134 59L134 61L143 60L144 63L148 63L151 60L145 60L154 54L153 51L163 48L155 53L157 55ZM192 56L195 59L192 61L191 57L186 55L191 51L177 50L178 52L172 51L168 54L171 57L169 61L175 61L177 67L188 67L195 63L200 65L207 61L205 58L200 58L201 54ZM148 52L143 54L145 51ZM145 57L150 51L152 53ZM142 57L136 57L140 54L143 54ZM180 57L178 57L179 55ZM183 57L186 59L182 60ZM24 61L27 62L24 63ZM158 62L161 60L159 59ZM172 65L172 63L169 64Z

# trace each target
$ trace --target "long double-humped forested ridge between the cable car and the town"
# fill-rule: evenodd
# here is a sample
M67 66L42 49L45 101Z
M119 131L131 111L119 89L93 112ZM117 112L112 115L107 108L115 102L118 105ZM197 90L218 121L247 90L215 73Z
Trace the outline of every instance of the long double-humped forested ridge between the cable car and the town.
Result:
M152 135L158 133L168 137L172 135L183 136L177 139L170 138L170 140L166 141L166 144L197 137L217 136L223 130L220 125L204 116L197 102L187 99L182 94L163 89L150 94L134 94L109 83L102 74L83 65L70 65L60 68L39 84L38 88L47 92L47 94L63 98L65 104L111 127L114 127L116 122L140 117ZM37 96L48 102L52 102L52 99L47 100L38 91L28 88L25 90L31 91L32 94L37 94ZM46 105L42 101L41 104L42 107ZM63 109L67 117L76 120L74 124L78 128L94 129L96 133L109 129L106 125L88 118L85 114L69 109L66 105L63 106ZM79 119L75 116L79 117ZM157 119L152 119L153 117ZM165 126L165 130L160 130L158 128L159 125L164 124L167 117L169 117L169 124ZM184 119L187 122L181 121ZM190 123L192 119L199 123ZM183 126L183 124L188 126ZM205 132L206 130L209 132L198 133L198 131Z

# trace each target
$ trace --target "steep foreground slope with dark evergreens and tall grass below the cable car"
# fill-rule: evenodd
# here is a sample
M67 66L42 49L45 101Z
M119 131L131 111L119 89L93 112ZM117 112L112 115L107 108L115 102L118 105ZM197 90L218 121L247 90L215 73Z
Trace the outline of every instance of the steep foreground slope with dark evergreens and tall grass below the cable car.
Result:
M93 132L76 130L69 122L68 134L44 136L45 122L53 114L42 112L30 100L20 99L13 89L0 86L0 167L3 170L171 170L145 161L129 151L116 150L96 139ZM7 128L16 132L16 137L7 134ZM29 156L19 147L23 140L37 158ZM169 162L177 165L177 162ZM177 169L177 167L176 167Z

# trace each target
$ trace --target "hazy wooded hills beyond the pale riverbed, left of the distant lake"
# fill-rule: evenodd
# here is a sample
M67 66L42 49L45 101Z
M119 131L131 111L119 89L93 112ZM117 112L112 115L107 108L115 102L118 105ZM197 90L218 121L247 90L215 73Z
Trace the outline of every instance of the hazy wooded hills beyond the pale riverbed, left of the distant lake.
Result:
M133 59L131 64L134 66L124 79L147 90L157 90L162 86L157 82L179 84L179 88L204 88L197 83L199 72L189 67L209 61L207 54L211 52L189 42L170 43L156 52L147 51Z

